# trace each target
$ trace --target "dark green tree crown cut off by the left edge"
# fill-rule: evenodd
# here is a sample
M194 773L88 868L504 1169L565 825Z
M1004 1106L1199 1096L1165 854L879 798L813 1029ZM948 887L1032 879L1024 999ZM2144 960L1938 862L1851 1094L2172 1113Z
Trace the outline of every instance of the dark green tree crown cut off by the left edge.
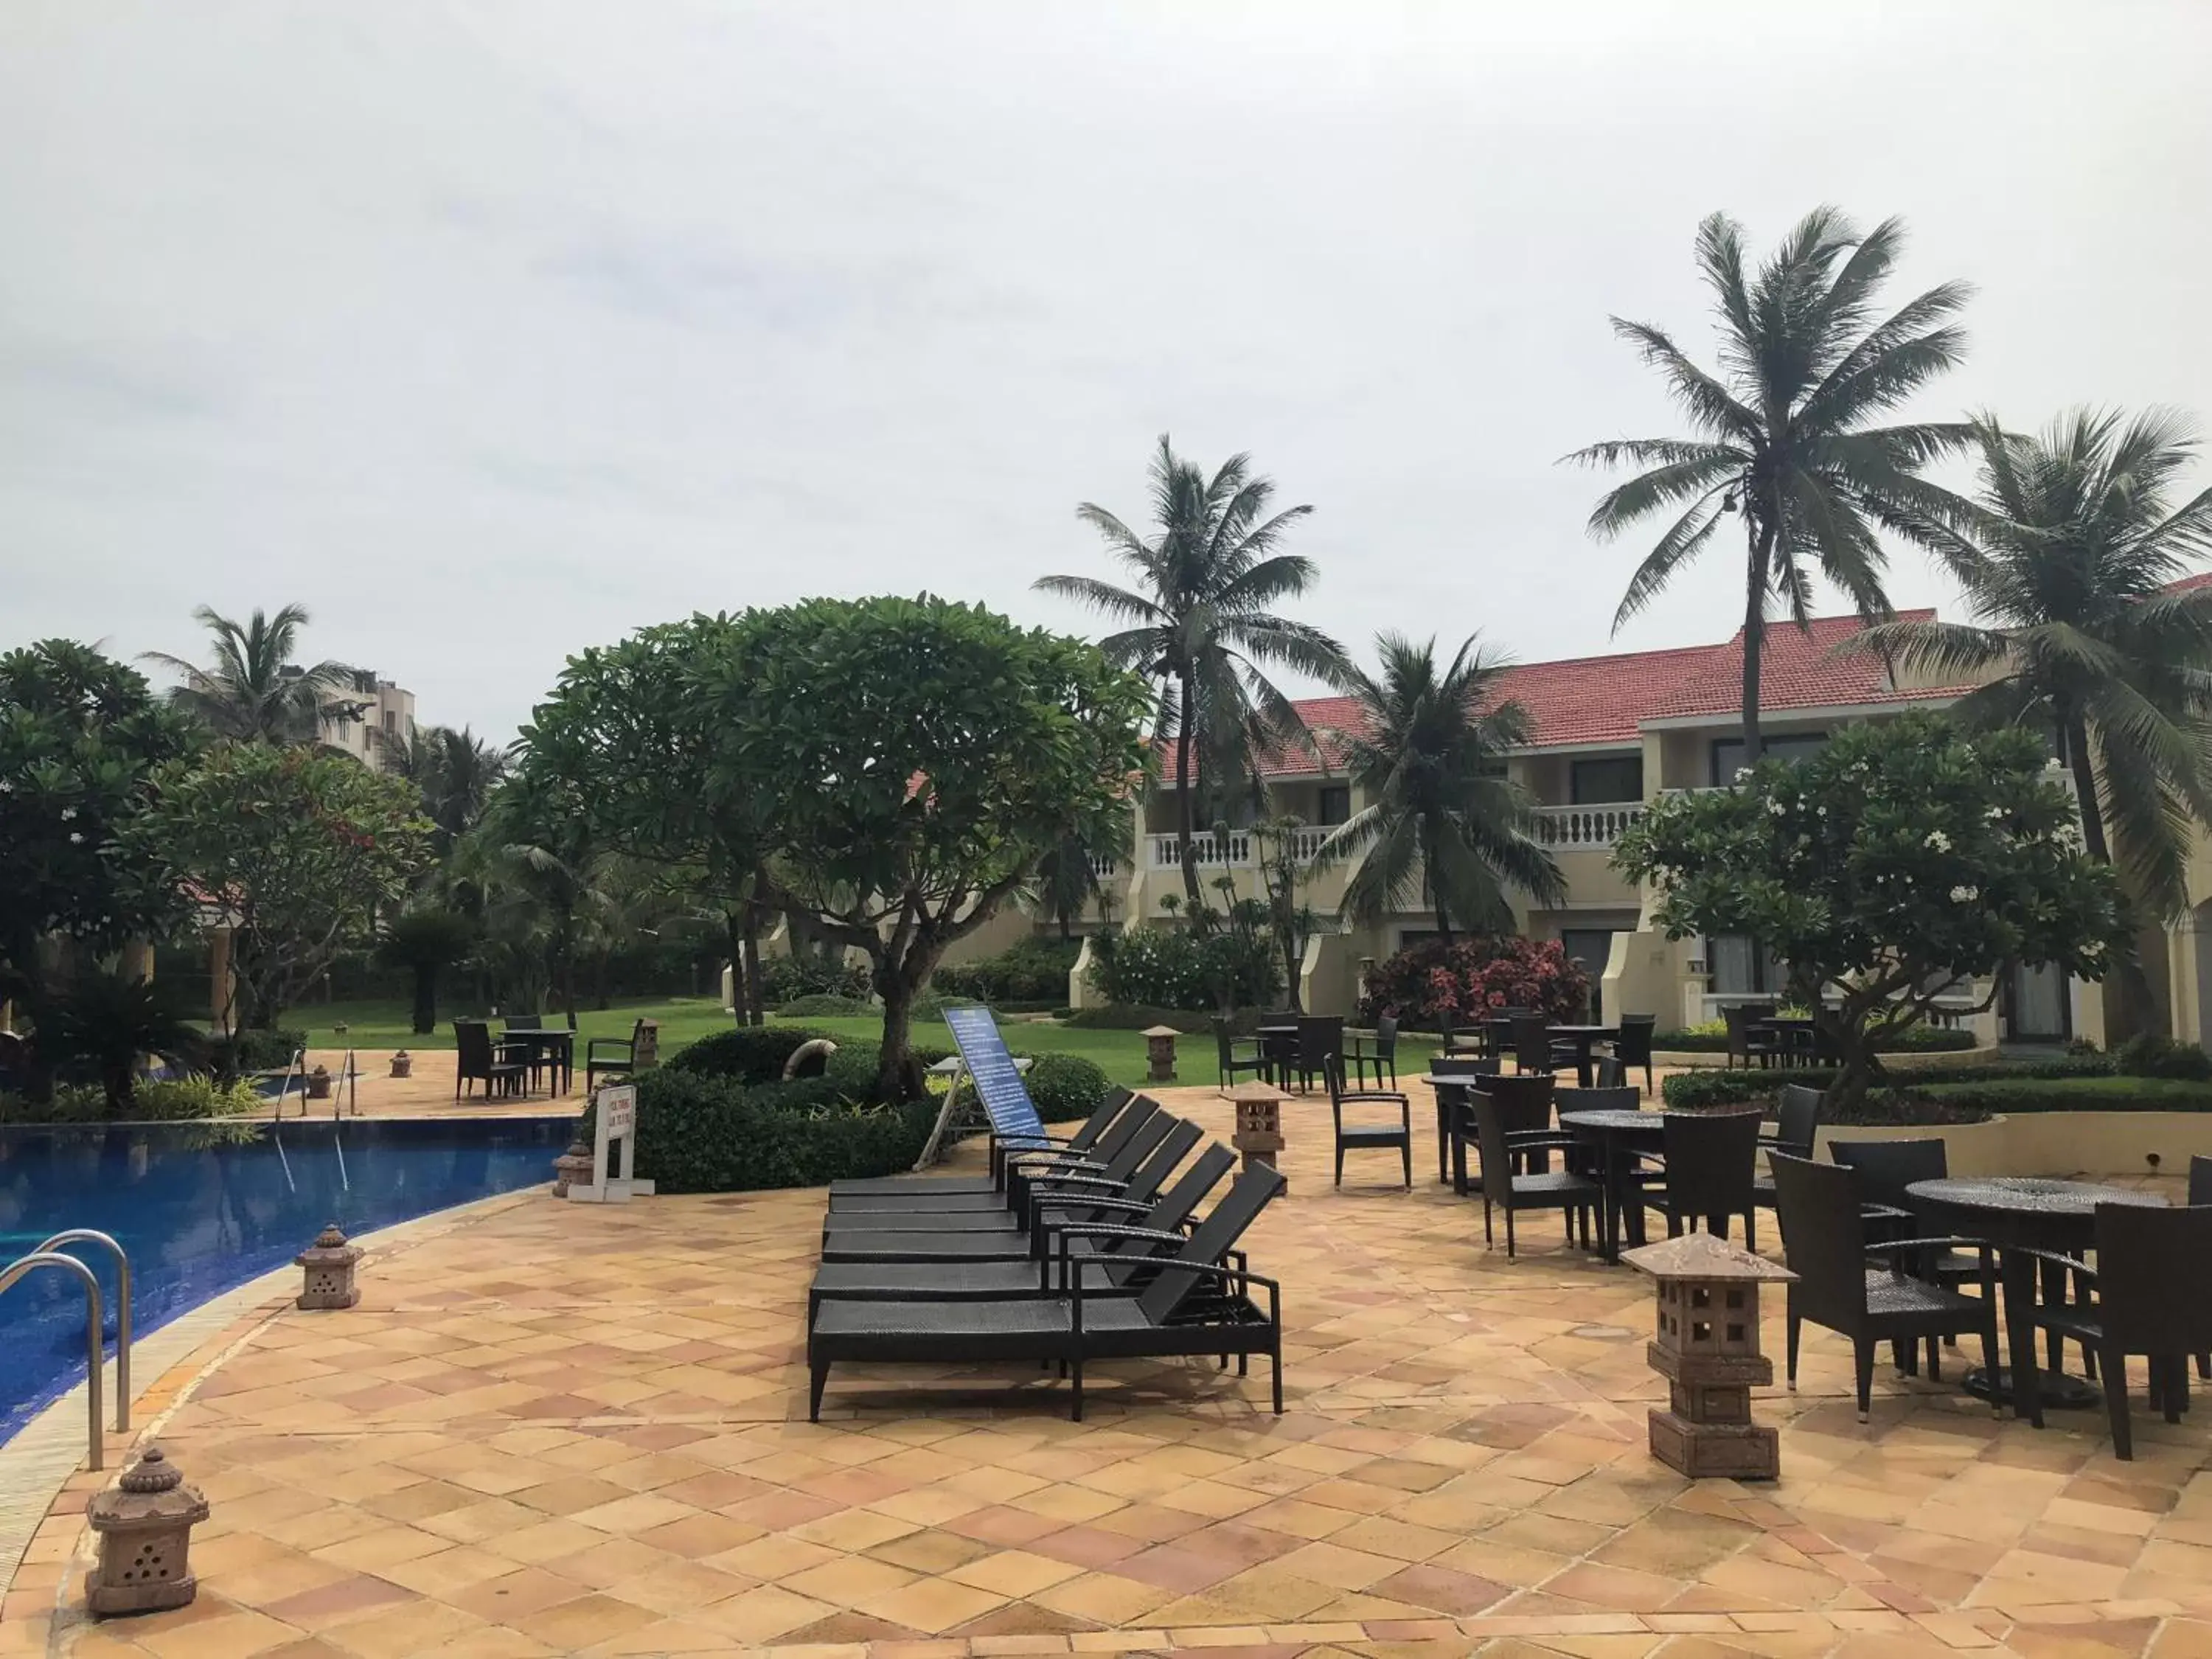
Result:
M190 721L91 646L0 655L0 998L38 1000L51 933L106 953L181 918L157 852L124 836L192 748Z

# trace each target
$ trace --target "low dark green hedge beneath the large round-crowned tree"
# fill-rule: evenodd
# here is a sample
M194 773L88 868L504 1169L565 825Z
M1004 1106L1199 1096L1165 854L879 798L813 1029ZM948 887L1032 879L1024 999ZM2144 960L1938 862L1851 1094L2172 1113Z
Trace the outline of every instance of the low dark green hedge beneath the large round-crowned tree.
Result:
M637 1079L637 1175L661 1192L761 1192L914 1168L938 1102L849 1106L827 1077L745 1088L657 1066ZM591 1108L577 1133L591 1139Z

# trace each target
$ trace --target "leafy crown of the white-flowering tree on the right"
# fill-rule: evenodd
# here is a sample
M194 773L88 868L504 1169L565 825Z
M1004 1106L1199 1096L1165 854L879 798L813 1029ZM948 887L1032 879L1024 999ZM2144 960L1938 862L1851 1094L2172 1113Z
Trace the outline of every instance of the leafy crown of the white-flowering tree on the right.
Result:
M1655 801L1613 863L1659 887L1668 938L1743 933L1790 964L1845 1057L2008 964L2101 978L2121 933L2110 869L2081 854L2031 732L1933 714L1851 726L1732 790Z

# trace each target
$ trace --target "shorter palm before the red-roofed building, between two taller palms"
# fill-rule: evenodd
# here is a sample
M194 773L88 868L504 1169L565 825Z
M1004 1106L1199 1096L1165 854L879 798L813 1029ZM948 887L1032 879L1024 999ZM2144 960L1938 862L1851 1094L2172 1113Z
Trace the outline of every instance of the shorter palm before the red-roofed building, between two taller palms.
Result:
M1436 639L1387 633L1376 650L1380 675L1340 677L1358 699L1360 730L1336 734L1369 805L1321 845L1323 858L1356 860L1345 914L1371 925L1427 896L1449 942L1453 918L1509 931L1509 885L1542 905L1564 900L1559 865L1528 836L1528 799L1504 776L1506 750L1528 741L1528 712L1498 701L1504 659L1473 637L1442 670Z

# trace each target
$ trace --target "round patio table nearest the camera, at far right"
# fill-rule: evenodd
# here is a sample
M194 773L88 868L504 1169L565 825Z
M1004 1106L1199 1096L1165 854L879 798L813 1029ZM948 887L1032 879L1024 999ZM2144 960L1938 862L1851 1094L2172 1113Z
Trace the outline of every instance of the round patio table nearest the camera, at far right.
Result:
M1966 1371L1969 1394L1984 1400L2013 1398L2013 1376L2035 1356L2035 1323L2028 1310L2035 1305L2035 1263L2022 1250L2053 1250L2062 1256L2081 1256L2097 1245L2099 1203L2141 1203L2163 1210L2166 1199L2157 1192L2135 1192L2124 1186L2101 1186L2097 1181L2046 1181L2028 1175L1958 1177L1944 1181L1913 1181L1905 1194L1924 1206L1931 1217L1955 1225L1973 1239L1989 1239L2002 1252L2004 1267L2004 1332L2013 1363L2000 1376L1989 1376L1980 1365ZM2042 1263L2048 1292L2064 1290L2064 1267ZM2095 1385L2066 1376L2057 1363L2037 1369L2044 1405L2066 1409L2095 1407L2104 1396Z

